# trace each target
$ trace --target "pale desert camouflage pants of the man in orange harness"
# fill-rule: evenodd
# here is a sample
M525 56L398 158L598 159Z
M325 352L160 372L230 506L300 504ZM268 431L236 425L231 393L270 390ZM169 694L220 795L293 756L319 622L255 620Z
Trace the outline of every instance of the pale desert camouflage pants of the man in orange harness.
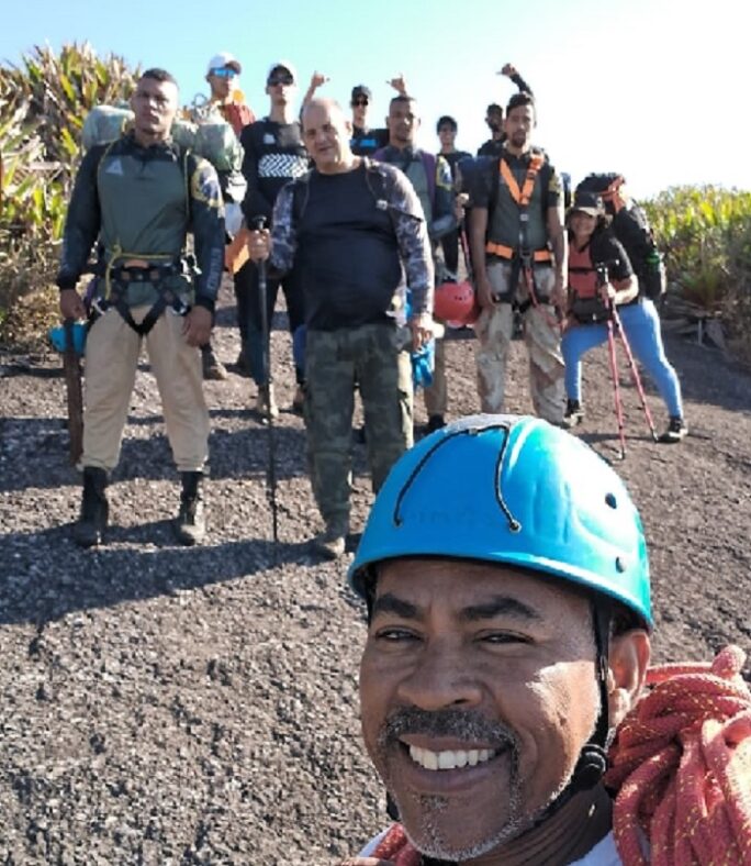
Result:
M524 303L527 289L520 275L519 285L511 287L512 265L494 262L487 267L493 293L509 296ZM551 267L535 267L535 286L540 300L550 298L554 274ZM529 390L533 406L539 418L558 424L563 419L563 356L561 333L556 322L556 310L549 303L539 308L528 307L522 315L524 342L529 354ZM483 310L474 325L478 335L475 362L478 367L478 392L483 412L502 412L505 397L506 356L514 329L514 311L511 303L496 303Z

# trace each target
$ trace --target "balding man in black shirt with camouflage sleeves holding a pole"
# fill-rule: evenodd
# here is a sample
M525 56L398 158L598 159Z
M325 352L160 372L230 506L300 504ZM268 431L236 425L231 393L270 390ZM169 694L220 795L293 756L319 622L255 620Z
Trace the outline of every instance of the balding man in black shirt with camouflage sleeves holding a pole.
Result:
M433 259L412 185L393 166L352 154L351 124L340 107L312 100L303 110L303 127L315 168L284 187L272 234L254 233L248 252L254 260L270 254L279 271L300 273L309 466L326 524L315 546L335 558L344 553L349 530L356 381L374 490L412 445L408 349L433 334Z

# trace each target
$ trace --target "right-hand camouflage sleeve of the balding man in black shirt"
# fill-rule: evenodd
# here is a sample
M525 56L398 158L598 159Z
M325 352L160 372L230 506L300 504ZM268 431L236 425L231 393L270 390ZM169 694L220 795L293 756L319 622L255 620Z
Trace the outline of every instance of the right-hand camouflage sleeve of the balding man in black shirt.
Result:
M389 210L396 232L399 251L404 263L406 281L412 292L415 315L433 311L433 254L425 225L425 214L412 184L399 169L385 164L382 171L392 174Z

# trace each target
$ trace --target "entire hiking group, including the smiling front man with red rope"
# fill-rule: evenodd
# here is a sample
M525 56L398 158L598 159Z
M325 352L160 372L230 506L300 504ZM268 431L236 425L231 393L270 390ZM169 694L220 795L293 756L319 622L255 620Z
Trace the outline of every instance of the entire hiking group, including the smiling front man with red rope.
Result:
M317 74L298 120L288 62L269 68L270 112L254 121L233 95L239 71L220 54L206 79L239 136L242 178L173 141L178 87L157 68L138 79L132 129L90 147L77 176L57 279L63 315L90 320L76 542L104 537L107 482L143 340L182 476L177 537L202 540L202 378L216 366L210 335L223 270L234 271L238 360L269 420L268 321L281 288L293 342L304 342L294 400L326 524L322 553L339 556L349 529L356 388L377 492L349 580L368 611L365 742L393 823L348 863L750 864L743 654L648 669L653 619L639 514L615 471L561 429L581 419L578 364L612 338L613 321L599 312L617 304L668 403L666 441L685 434L649 280L607 233L608 202L614 222L628 216L623 185L579 190L563 216L559 176L531 145L528 88L505 116L490 107L486 153L467 164L417 147L417 103L401 77L386 132L367 125L367 87L352 89L352 123L316 96ZM451 157L456 123L441 118L438 132ZM233 258L227 230L243 232L243 255ZM434 309L441 296L457 299L451 266L466 222L485 414L446 424ZM189 231L195 266L183 253ZM81 297L94 248L96 277ZM591 302L581 320L572 288L573 301ZM539 418L500 414L515 313ZM430 431L413 446L411 355L430 346Z

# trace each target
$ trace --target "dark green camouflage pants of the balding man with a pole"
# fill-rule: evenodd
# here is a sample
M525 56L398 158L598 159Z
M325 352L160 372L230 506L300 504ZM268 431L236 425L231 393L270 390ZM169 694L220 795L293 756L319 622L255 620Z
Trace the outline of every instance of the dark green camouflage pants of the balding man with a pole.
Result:
M349 525L355 382L365 409L373 490L412 446L412 366L392 324L309 331L305 426L313 495L328 529Z

